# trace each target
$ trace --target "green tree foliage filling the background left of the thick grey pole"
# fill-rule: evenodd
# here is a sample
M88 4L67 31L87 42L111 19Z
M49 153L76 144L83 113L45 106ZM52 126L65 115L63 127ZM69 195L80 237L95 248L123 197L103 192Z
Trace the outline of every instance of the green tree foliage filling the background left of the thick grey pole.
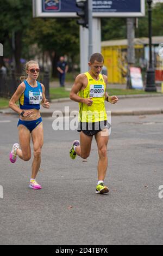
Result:
M74 19L33 19L32 0L0 0L0 42L4 56L12 57L13 33L16 49L21 57L30 58L31 45L37 44L41 52L67 53L74 58L79 52L79 26ZM19 42L17 43L16 36Z

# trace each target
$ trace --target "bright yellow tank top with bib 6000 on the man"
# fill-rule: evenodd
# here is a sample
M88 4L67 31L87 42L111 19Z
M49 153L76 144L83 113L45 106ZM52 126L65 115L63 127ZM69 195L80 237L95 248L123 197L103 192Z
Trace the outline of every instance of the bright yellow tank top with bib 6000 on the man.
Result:
M106 84L103 75L99 74L99 80L95 80L89 72L84 74L87 77L88 84L84 90L79 91L79 97L84 99L93 97L93 104L87 106L84 103L79 103L79 122L94 123L107 120L105 110Z

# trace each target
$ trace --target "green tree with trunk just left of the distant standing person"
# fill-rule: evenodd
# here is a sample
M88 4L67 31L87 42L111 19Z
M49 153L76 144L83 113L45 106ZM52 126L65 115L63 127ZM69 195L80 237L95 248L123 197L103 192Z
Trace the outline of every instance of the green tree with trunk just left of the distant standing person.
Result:
M67 55L75 61L79 54L79 26L74 19L34 19L24 39L37 43L42 52L48 52L52 62L52 76L56 75L58 57Z

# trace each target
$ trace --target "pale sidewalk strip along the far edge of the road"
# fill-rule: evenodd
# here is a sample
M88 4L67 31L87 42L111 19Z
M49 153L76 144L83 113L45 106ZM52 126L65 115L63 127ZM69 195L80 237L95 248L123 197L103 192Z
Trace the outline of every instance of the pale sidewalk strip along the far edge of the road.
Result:
M112 105L110 103L105 103L106 111L111 111L112 116L117 115L148 115L148 114L163 114L163 95L158 94L158 96L130 96L118 97L119 101L117 104ZM69 111L78 111L78 103L73 102L69 98L52 100L51 108L44 109L41 106L41 115L52 117L54 111L61 111L62 114L65 114L66 110ZM3 114L15 114L11 109L0 110L0 113Z

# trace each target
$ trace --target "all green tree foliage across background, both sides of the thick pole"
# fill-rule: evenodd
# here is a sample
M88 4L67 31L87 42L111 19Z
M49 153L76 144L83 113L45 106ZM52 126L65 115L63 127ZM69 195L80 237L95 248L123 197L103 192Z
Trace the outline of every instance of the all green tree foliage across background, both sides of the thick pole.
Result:
M73 63L79 62L79 26L76 19L33 19L32 0L0 0L0 5L0 42L4 45L5 57L12 57L14 52L14 32L16 49L21 50L18 57L21 54L21 57L30 58L31 45L37 44L40 52L49 52L51 57L53 53L57 56L67 54ZM136 37L148 36L147 14L146 8L146 17L139 19ZM162 16L163 4L158 3L152 13L153 35L163 34ZM125 18L102 19L102 40L126 38L126 31Z

